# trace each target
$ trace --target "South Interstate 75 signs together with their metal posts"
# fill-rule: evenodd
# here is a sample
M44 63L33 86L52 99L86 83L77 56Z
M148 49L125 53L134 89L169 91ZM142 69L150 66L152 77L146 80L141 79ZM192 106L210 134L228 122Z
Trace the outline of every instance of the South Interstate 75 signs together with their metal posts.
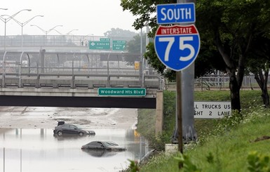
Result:
M192 85L191 81L194 80L194 60L200 49L200 37L195 25L170 27L161 25L195 22L195 4L177 0L177 4L158 5L156 12L157 22L160 26L156 31L154 46L159 60L176 72L177 139L178 150L183 153L183 139L194 140L196 138L193 121L191 121L194 119L194 83ZM185 98L184 102L182 102L183 98ZM184 126L183 121L186 122ZM179 168L182 168L181 163Z

